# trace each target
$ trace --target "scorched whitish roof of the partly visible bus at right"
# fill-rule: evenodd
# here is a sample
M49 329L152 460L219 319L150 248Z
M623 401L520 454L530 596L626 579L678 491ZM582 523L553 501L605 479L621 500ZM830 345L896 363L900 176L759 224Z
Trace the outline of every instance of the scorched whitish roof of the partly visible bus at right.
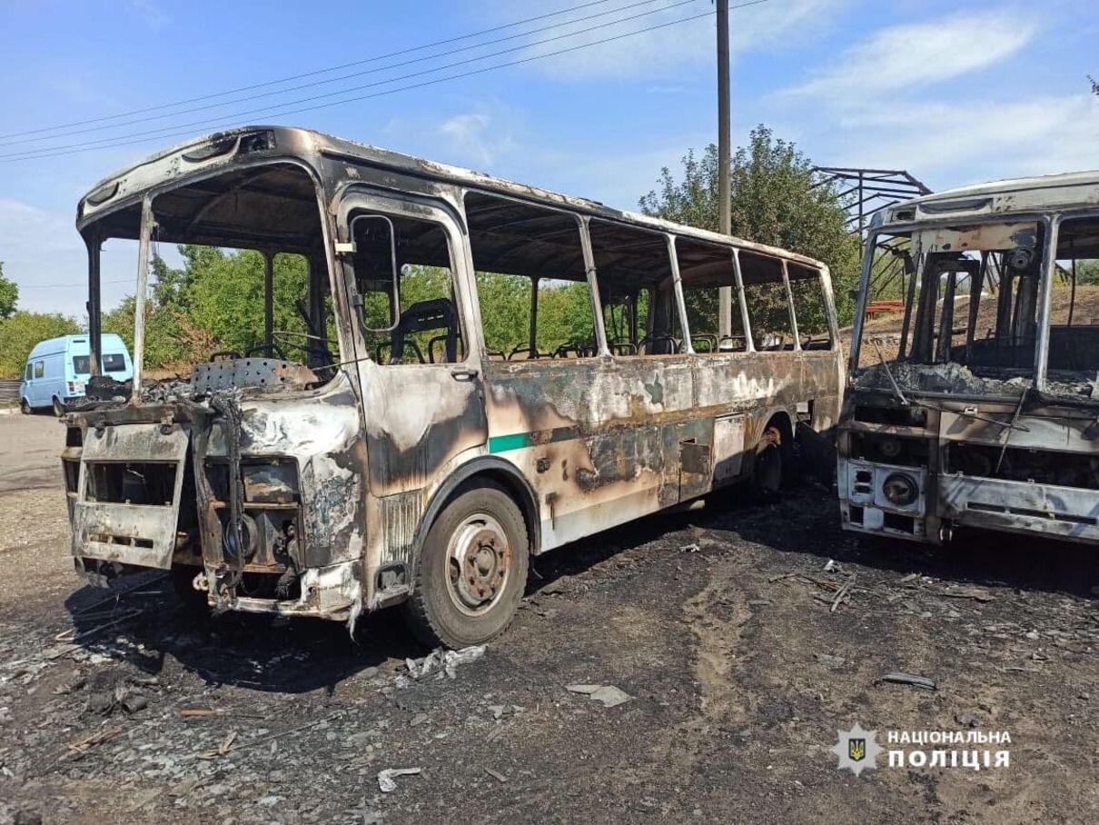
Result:
M870 227L1097 206L1099 206L1099 170L1070 172L992 180L898 201L875 212L870 219Z

